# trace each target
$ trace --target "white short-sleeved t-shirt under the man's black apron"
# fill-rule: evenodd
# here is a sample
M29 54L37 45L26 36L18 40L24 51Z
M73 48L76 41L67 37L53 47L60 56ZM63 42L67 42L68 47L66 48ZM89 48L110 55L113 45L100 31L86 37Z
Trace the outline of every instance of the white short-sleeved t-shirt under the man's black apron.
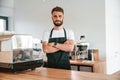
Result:
M48 42L51 30L47 30L47 31L44 32L43 37L42 37L42 41L47 41ZM66 31L67 39L74 40L74 33L73 33L73 31L70 30L70 29L65 29L65 31ZM59 37L65 37L64 30L63 29L53 30L52 38L59 38Z

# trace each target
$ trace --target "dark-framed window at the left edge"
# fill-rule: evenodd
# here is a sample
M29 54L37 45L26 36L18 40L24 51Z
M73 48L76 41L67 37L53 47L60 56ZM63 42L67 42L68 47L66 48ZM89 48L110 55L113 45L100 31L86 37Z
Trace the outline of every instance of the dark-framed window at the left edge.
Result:
M0 31L8 30L8 17L0 16Z

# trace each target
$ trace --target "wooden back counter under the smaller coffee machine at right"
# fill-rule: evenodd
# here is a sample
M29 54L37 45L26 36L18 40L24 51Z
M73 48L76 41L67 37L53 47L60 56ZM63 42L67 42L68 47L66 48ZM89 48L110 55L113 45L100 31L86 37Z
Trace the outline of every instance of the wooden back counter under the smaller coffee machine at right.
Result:
M80 61L80 60L70 60L71 65L75 65L80 71L80 66L87 66L92 68L92 72L95 73L106 73L105 61Z

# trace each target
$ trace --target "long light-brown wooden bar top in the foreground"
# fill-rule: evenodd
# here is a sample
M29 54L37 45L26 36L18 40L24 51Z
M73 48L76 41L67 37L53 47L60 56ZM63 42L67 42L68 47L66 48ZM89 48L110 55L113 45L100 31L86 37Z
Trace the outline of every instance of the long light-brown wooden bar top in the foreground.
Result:
M52 68L17 73L0 72L0 80L120 80L119 76Z

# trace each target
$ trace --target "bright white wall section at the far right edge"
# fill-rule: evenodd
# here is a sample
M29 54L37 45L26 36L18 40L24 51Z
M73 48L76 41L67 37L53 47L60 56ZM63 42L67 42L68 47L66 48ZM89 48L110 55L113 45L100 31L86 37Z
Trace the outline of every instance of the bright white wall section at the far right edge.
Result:
M120 0L106 0L107 73L120 70Z

